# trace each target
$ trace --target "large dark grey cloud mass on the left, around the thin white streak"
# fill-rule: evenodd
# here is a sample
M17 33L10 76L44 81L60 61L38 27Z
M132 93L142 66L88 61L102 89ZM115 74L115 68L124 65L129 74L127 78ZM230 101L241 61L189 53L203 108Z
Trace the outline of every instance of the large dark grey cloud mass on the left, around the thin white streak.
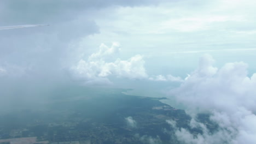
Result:
M2 26L50 24L0 32L0 109L37 105L50 89L74 82L69 76L79 39L100 33L98 11L120 6L158 4L160 1L3 0ZM102 41L98 42L99 44ZM95 47L97 49L97 47ZM84 51L88 47L82 47ZM76 82L75 82L76 83ZM77 85L77 84L75 84Z

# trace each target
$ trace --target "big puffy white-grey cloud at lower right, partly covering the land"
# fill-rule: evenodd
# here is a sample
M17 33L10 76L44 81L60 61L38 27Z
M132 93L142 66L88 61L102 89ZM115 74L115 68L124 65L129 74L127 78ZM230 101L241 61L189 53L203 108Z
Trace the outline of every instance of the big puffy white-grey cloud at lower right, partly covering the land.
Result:
M248 76L244 62L226 63L220 69L213 63L210 55L202 56L199 67L171 91L187 106L190 127L202 130L194 135L187 129L176 129L176 136L184 143L255 143L256 74ZM218 124L215 132L197 121L201 112L209 113L210 121Z

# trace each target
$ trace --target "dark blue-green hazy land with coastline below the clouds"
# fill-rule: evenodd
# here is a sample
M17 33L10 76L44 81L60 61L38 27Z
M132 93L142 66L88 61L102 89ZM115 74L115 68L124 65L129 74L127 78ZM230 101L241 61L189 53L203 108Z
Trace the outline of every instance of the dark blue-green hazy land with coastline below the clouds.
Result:
M124 89L62 87L47 103L0 117L0 139L37 137L38 141L80 143L178 143L166 121L189 127L190 117L159 100L126 95ZM133 125L127 122L132 119ZM200 117L208 121L207 115ZM209 127L214 125L207 123Z

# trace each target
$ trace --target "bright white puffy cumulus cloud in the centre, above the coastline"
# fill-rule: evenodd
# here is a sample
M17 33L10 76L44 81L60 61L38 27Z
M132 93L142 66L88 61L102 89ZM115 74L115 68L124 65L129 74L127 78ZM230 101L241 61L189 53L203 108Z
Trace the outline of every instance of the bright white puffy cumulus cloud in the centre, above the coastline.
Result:
M114 62L106 62L107 57L112 57L114 53L120 51L119 44L113 43L111 47L101 44L100 50L92 53L88 60L80 59L80 61L72 67L75 76L82 77L85 80L102 79L110 75L123 77L128 79L144 79L147 77L144 68L143 56L136 55L126 61L120 58Z

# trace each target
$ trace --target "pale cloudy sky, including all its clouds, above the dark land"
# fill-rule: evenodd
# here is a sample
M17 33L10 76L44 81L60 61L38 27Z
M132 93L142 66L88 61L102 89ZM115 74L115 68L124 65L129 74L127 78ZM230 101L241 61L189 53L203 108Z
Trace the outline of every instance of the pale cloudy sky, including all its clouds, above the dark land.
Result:
M209 112L222 124L198 139L177 129L185 143L216 143L220 135L253 143L255 6L249 0L3 0L0 26L49 26L0 31L1 107L44 100L45 91L65 83L132 88L127 93L164 95L189 115ZM196 119L191 127L205 129Z

